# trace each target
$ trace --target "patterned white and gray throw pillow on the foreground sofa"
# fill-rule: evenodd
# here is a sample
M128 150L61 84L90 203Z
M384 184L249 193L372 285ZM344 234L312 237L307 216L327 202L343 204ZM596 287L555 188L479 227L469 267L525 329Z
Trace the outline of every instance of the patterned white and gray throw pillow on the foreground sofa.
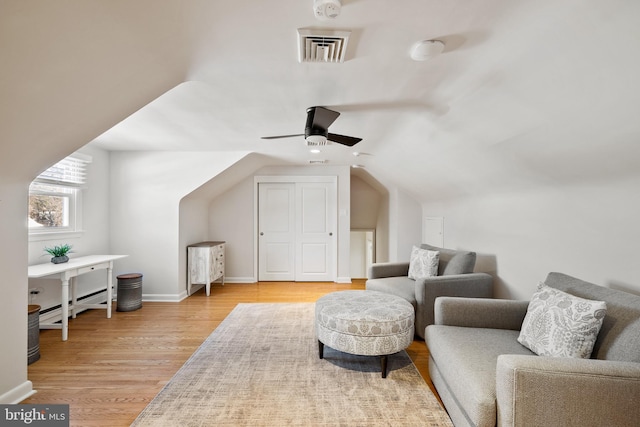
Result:
M606 312L604 301L579 298L540 283L518 342L540 356L588 359Z

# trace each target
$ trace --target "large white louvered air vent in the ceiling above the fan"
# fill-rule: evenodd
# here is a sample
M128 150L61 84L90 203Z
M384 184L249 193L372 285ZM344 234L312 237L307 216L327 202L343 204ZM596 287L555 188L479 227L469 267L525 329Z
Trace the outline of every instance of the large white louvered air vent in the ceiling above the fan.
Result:
M298 29L298 62L344 62L351 31Z

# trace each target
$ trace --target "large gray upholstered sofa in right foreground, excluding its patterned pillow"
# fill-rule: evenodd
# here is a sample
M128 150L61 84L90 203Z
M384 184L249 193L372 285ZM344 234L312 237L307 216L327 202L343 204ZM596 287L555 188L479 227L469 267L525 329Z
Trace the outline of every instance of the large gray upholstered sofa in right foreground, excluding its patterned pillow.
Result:
M590 359L538 356L517 339L528 301L438 298L429 372L460 426L640 425L640 296L561 274L545 284L606 302Z

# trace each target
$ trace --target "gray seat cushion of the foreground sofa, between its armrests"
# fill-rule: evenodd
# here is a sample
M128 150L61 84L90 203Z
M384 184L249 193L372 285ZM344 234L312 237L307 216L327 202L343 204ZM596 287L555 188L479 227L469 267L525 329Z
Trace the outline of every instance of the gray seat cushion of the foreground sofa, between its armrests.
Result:
M425 341L444 384L469 425L496 422L496 362L501 354L533 355L518 331L429 325ZM436 384L436 387L440 389ZM446 403L446 402L445 402Z

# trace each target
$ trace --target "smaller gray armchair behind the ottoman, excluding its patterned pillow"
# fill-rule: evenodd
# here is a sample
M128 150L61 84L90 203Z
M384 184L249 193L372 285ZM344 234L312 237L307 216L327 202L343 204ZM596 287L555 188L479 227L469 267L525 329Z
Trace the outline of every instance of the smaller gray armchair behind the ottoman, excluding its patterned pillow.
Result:
M369 268L366 289L402 297L415 308L416 335L424 338L424 329L433 323L433 307L436 297L493 296L493 277L486 273L474 273L476 253L471 251L439 248L427 244L420 248L438 251L438 275L410 279L409 261L378 263Z

